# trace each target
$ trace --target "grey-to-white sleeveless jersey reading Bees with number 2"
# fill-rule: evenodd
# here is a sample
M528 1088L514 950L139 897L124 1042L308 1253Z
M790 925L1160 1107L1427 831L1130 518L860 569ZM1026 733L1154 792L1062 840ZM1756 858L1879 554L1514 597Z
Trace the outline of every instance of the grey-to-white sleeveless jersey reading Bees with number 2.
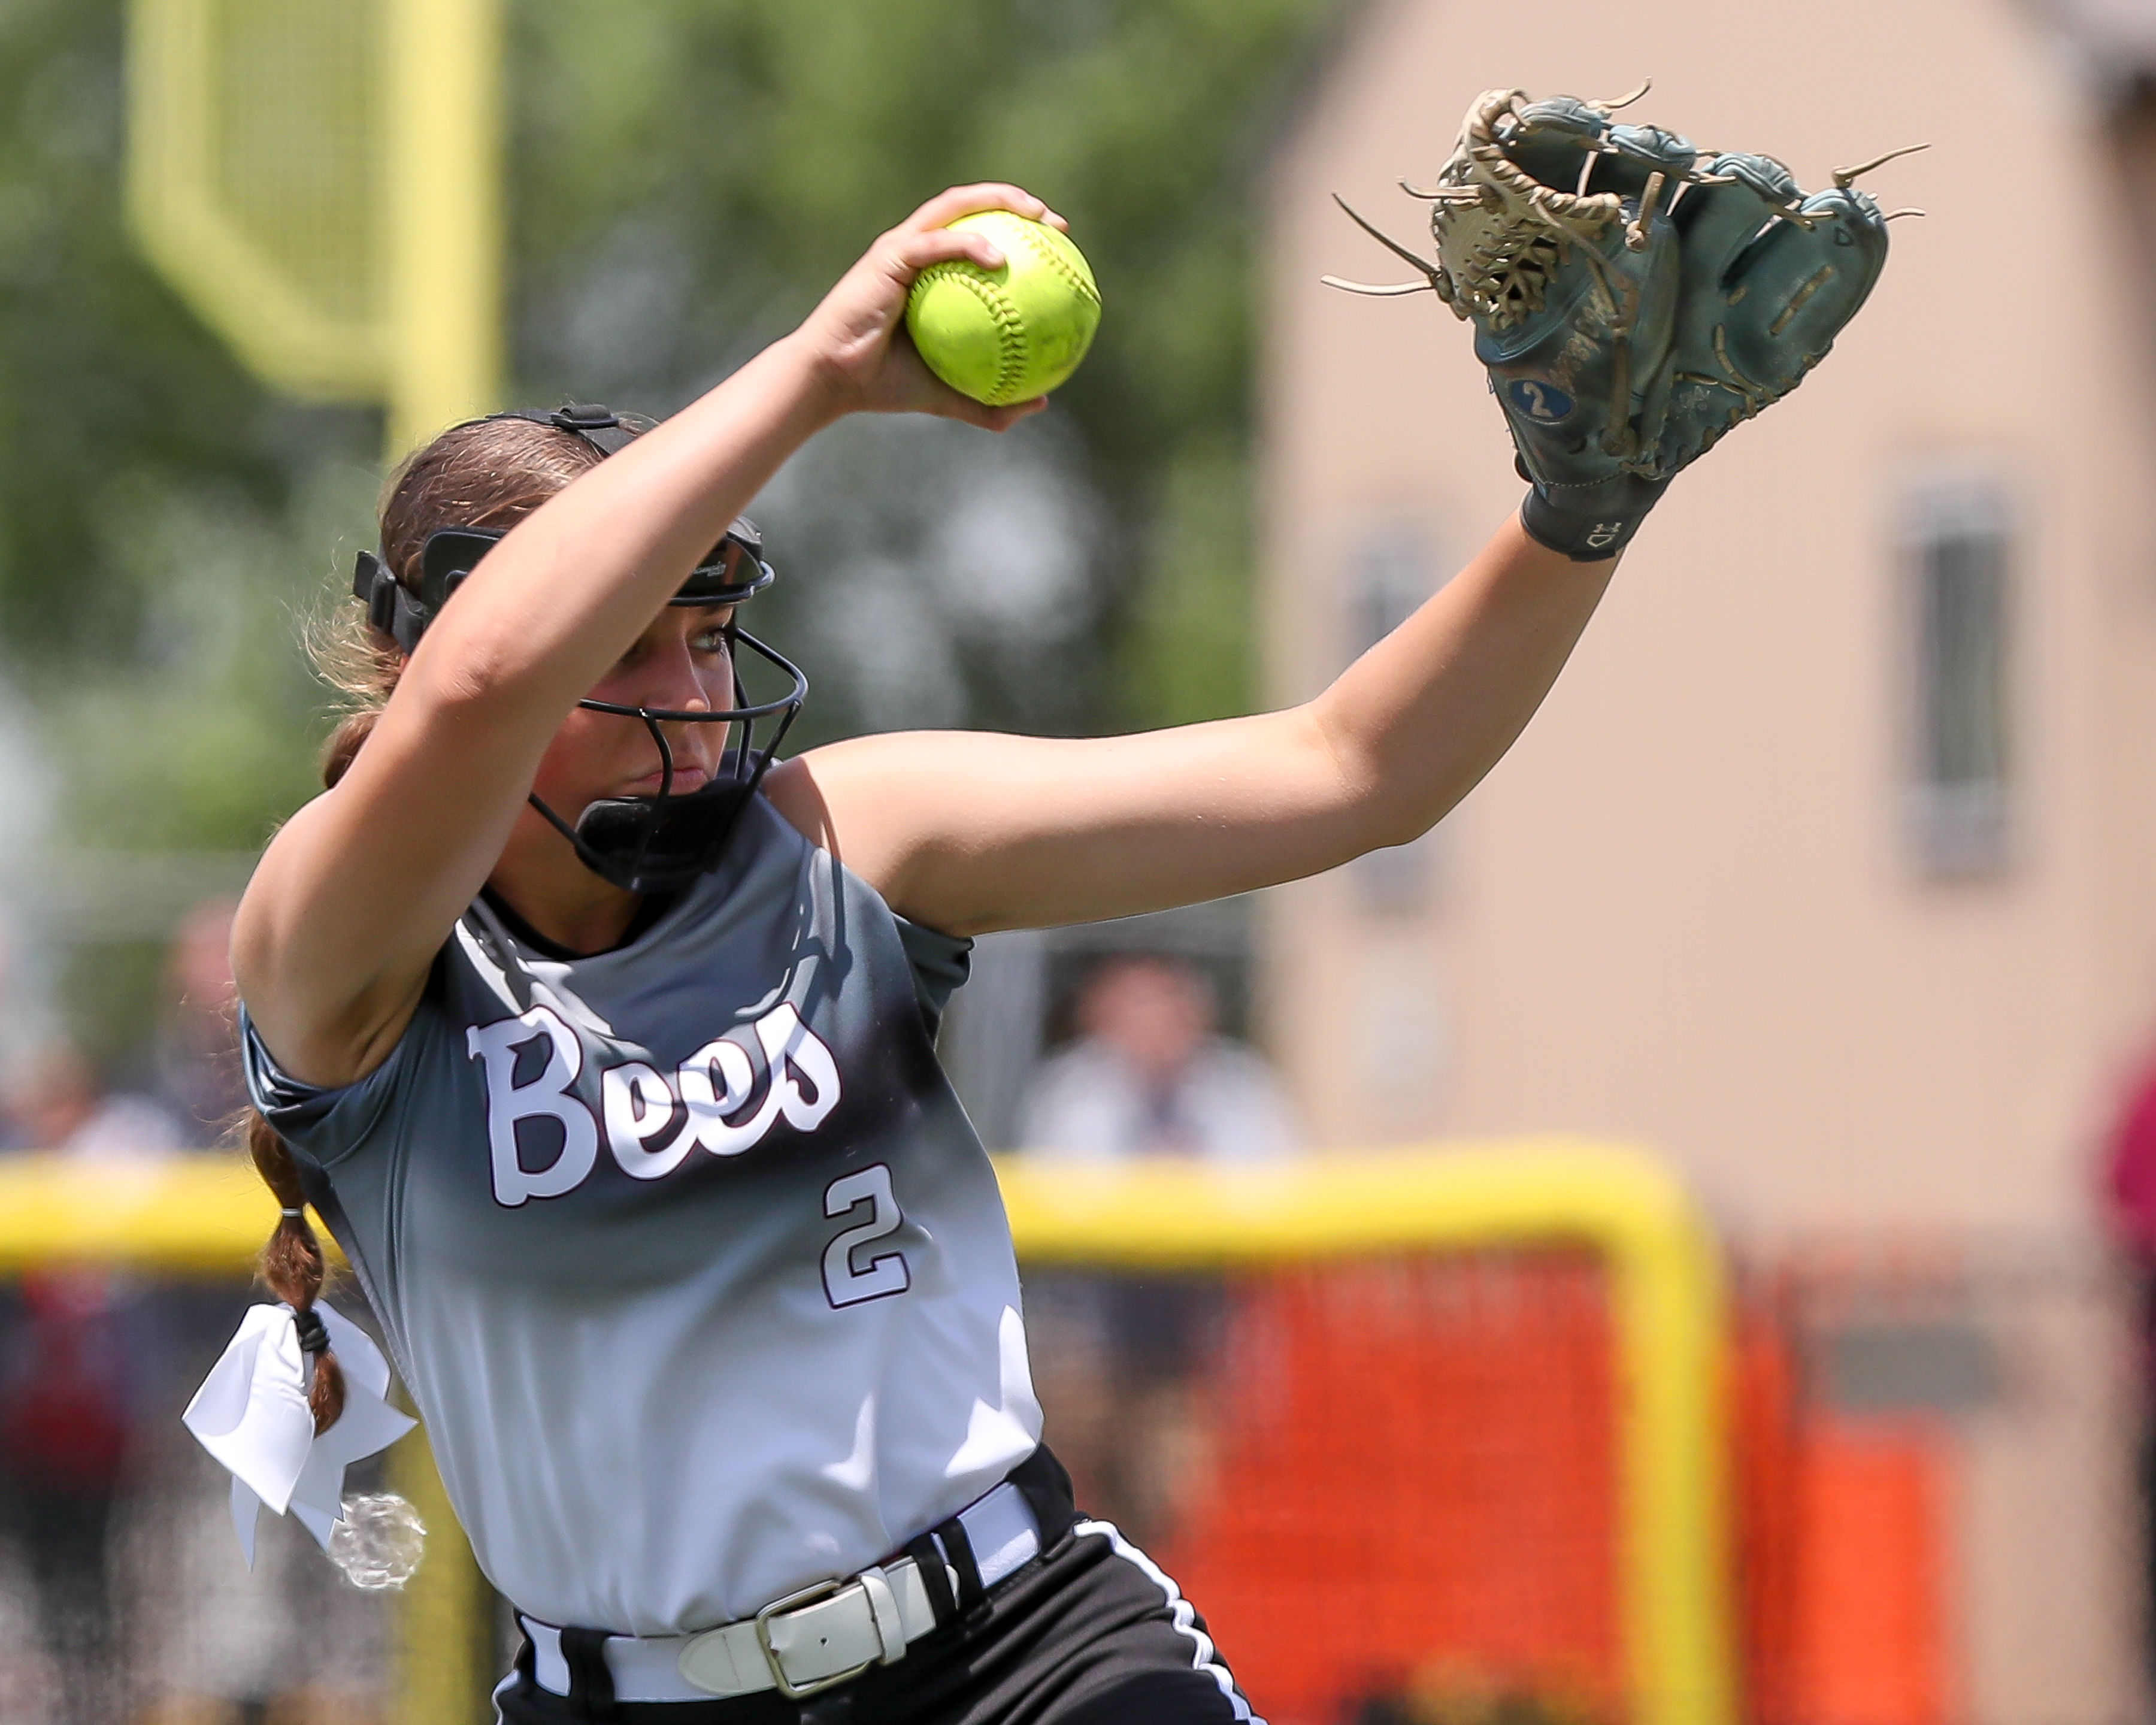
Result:
M757 798L617 951L545 957L474 906L358 1085L298 1085L248 1031L526 1613L746 1617L1031 1453L1009 1223L931 1044L964 951Z

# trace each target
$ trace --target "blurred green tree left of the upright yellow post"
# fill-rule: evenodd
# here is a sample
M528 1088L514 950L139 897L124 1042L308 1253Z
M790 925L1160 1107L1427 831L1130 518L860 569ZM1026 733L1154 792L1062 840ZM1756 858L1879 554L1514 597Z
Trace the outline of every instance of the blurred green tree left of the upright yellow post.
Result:
M379 431L272 399L138 257L121 108L116 0L0 9L0 668L78 837L254 845L317 705L289 528Z

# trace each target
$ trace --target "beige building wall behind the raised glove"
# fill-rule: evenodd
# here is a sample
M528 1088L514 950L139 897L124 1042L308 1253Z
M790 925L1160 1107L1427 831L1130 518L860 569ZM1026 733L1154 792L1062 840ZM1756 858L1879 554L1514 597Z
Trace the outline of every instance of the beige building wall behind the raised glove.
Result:
M1272 686L1350 653L1350 567L1442 576L1516 507L1470 332L1399 267L1492 84L1615 95L1699 142L1871 185L1884 280L1826 364L1677 481L1518 748L1427 841L1421 908L1356 869L1279 895L1272 1046L1326 1143L1572 1128L1675 1156L1740 1231L2074 1233L2091 1143L2156 1037L2150 319L2100 119L2009 0L1533 9L1380 0L1276 172L1266 535ZM2029 147L2029 140L2044 140ZM1906 841L1912 487L2014 511L2009 867ZM1302 571L1330 567L1335 602ZM1382 880L1378 882L1382 888Z

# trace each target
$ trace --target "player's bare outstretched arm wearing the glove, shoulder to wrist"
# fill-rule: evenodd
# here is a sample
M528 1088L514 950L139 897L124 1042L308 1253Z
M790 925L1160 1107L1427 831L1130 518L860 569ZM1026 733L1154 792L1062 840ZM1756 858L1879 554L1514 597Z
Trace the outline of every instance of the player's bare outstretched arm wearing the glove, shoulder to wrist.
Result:
M1533 718L1613 569L1509 520L1300 707L1125 737L856 737L768 789L893 910L951 934L1300 880L1436 826Z

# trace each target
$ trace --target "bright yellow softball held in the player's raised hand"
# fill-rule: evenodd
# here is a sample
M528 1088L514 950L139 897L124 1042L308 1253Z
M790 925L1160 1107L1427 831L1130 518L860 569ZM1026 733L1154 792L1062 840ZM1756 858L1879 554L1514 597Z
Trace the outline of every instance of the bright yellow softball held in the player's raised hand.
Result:
M1003 250L1000 270L931 263L906 295L906 328L929 371L959 395L1003 408L1048 395L1100 328L1100 287L1067 235L1007 209L959 216Z

